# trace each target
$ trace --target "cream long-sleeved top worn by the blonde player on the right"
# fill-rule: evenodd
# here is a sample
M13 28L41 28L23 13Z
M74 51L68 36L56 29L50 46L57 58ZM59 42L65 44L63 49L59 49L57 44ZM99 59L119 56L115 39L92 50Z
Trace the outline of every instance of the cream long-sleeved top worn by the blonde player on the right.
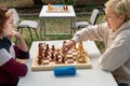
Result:
M115 32L108 29L106 23L89 26L77 31L72 40L76 43L87 40L103 41L106 51L99 58L100 68L110 71L117 83L128 83L130 86L130 20Z

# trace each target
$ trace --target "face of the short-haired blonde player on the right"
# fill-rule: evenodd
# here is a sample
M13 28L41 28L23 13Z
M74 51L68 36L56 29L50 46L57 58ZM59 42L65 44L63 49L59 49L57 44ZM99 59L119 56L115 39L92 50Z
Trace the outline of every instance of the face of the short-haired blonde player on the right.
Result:
M125 22L125 15L117 15L113 9L105 9L104 20L107 23L109 29L117 30Z

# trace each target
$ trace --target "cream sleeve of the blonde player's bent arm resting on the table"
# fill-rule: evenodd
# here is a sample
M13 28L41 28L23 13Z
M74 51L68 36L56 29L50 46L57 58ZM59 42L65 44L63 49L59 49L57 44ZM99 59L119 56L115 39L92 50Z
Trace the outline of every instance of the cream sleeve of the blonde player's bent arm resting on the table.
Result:
M125 43L116 42L100 57L100 68L107 71L114 71L121 67L129 59L129 53Z

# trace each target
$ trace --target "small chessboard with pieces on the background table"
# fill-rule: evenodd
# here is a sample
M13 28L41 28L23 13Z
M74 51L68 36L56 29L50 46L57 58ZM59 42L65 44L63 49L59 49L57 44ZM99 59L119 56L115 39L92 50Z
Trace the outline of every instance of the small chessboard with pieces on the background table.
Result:
M68 5L51 5L51 4L48 4L47 13L69 13Z

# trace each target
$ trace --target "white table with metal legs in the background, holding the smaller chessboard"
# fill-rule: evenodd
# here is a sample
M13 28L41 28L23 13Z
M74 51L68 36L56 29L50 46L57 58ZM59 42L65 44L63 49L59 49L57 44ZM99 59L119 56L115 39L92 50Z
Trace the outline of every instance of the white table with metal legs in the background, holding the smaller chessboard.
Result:
M69 19L70 20L70 35L72 35L72 28L75 26L75 18L76 18L76 14L75 14L75 11L74 11L74 8L73 5L68 5L68 13L50 13L50 12L47 12L48 11L48 5L43 5L42 9L41 9L41 12L39 14L39 20L40 20L40 39L42 39L42 30L43 30L43 35L57 35L57 34L62 34L63 33L55 33L55 34L49 34L47 33L47 28L46 28L46 20L49 19L49 18L55 18L55 19ZM66 35L64 33L64 35ZM68 35L68 33L67 33Z

